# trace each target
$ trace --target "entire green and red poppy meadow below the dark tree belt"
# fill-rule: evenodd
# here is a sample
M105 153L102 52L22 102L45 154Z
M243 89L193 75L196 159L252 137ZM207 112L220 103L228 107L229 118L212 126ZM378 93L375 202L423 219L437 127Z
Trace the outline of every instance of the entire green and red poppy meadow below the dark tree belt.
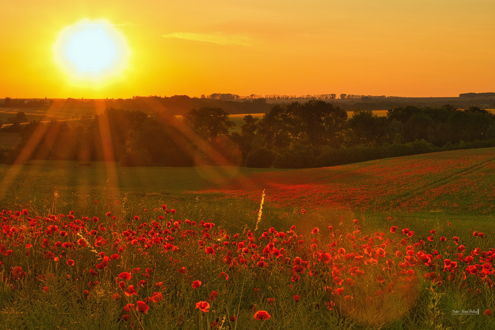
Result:
M1 328L493 329L494 158L1 165Z

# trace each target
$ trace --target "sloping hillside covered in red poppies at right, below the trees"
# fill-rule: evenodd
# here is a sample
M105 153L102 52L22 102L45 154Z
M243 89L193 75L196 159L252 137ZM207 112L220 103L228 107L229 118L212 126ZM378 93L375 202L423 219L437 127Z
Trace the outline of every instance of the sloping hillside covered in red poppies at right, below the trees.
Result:
M252 174L208 191L274 206L493 214L495 148L453 150L343 166Z

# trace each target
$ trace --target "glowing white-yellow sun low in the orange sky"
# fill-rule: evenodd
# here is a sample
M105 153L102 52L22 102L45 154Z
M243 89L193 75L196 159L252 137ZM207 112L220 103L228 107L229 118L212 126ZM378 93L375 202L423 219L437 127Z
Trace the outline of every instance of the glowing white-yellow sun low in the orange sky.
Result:
M124 36L106 20L82 20L63 29L53 59L74 81L103 83L120 77L131 51Z

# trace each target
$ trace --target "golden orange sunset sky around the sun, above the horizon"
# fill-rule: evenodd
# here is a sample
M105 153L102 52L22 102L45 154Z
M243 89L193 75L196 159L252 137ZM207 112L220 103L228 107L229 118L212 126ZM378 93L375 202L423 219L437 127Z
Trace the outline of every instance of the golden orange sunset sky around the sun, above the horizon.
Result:
M0 98L495 92L493 0L0 0ZM108 21L128 64L81 81L60 32ZM127 63L127 62L126 62Z

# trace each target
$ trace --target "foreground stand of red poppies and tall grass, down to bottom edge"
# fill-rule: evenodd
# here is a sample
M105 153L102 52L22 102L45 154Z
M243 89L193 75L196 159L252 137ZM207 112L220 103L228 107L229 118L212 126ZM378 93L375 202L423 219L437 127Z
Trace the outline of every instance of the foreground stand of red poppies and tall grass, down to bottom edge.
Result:
M293 220L304 223L301 209ZM358 219L228 233L161 205L120 222L3 211L6 329L489 329L492 233ZM395 224L394 219L384 219ZM428 231L429 230L429 231ZM480 315L451 315L478 309ZM470 327L464 327L470 325Z

